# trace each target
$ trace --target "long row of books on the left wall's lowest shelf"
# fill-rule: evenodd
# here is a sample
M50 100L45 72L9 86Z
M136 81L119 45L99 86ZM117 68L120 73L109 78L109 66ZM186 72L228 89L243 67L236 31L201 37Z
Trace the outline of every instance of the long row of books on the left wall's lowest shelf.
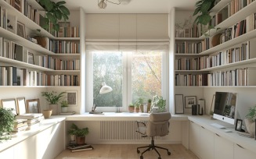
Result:
M77 75L47 75L43 72L0 66L0 86L79 86Z

